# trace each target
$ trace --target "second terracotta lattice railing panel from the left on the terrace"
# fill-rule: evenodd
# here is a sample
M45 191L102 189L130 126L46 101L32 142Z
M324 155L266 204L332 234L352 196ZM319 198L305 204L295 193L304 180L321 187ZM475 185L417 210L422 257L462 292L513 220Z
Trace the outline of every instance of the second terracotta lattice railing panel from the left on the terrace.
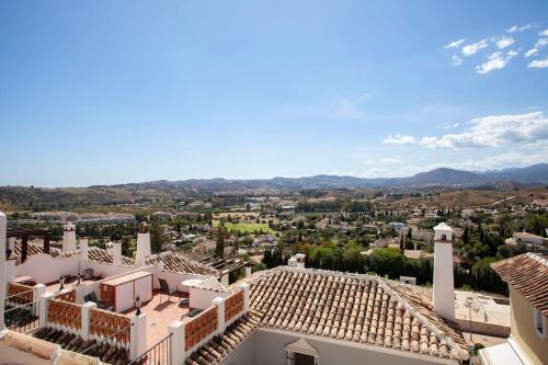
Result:
M114 340L117 342L129 345L129 317L103 309L92 309L90 313L90 334L101 338L111 338L114 335Z

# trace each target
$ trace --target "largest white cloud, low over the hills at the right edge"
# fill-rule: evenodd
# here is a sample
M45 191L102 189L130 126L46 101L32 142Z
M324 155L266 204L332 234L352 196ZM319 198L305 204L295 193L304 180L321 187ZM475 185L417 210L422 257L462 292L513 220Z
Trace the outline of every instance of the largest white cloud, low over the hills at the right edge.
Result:
M420 144L427 148L460 149L548 140L548 117L541 112L491 115L475 118L469 124L471 127L463 133L423 137Z

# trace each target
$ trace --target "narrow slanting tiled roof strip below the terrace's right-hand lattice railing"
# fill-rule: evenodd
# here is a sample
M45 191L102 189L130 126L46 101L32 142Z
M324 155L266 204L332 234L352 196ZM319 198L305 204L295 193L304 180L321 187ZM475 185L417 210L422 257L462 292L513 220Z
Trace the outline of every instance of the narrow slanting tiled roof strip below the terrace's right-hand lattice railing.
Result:
M259 326L259 318L253 315L240 317L225 332L216 335L208 343L186 357L186 365L219 364L236 346L243 342Z

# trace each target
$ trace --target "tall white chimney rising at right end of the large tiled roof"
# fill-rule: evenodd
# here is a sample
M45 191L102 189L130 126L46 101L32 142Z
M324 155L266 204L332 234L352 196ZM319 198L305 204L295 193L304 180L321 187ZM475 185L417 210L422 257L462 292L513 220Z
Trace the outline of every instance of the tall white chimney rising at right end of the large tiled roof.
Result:
M453 229L445 223L434 227L434 311L455 321L455 284L453 282Z

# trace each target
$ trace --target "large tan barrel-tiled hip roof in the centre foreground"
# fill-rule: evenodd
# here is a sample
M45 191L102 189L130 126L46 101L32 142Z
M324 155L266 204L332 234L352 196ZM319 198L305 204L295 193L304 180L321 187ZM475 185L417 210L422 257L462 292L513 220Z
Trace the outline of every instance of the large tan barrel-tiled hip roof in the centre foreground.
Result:
M251 308L264 316L261 326L265 327L468 358L455 330L378 277L278 267L251 283Z

